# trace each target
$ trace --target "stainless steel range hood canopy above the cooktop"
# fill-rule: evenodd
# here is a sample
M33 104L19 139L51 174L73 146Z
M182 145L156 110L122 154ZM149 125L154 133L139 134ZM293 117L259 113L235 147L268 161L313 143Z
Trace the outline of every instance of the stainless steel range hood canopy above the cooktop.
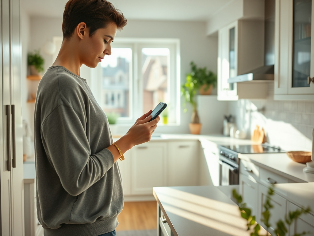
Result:
M274 65L262 66L246 74L228 79L228 83L238 83L245 81L267 81L274 79Z

